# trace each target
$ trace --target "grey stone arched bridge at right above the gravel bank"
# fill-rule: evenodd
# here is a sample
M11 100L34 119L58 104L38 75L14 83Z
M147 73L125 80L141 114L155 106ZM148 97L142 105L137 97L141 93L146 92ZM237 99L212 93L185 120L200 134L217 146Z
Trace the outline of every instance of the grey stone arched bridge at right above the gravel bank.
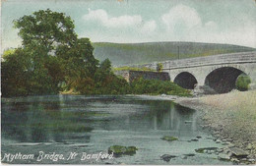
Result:
M249 76L250 87L256 88L256 51L155 62L140 67L157 69L158 63L162 64L162 72L169 74L170 81L188 89L210 86L216 92L228 92L242 74Z

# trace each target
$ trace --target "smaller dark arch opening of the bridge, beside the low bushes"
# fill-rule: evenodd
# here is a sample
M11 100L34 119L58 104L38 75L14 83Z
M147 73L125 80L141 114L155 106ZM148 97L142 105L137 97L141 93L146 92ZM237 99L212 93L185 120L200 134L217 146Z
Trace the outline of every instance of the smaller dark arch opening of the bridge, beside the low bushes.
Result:
M194 89L197 80L192 74L188 72L182 72L176 76L174 83L177 83L179 86L186 89Z

